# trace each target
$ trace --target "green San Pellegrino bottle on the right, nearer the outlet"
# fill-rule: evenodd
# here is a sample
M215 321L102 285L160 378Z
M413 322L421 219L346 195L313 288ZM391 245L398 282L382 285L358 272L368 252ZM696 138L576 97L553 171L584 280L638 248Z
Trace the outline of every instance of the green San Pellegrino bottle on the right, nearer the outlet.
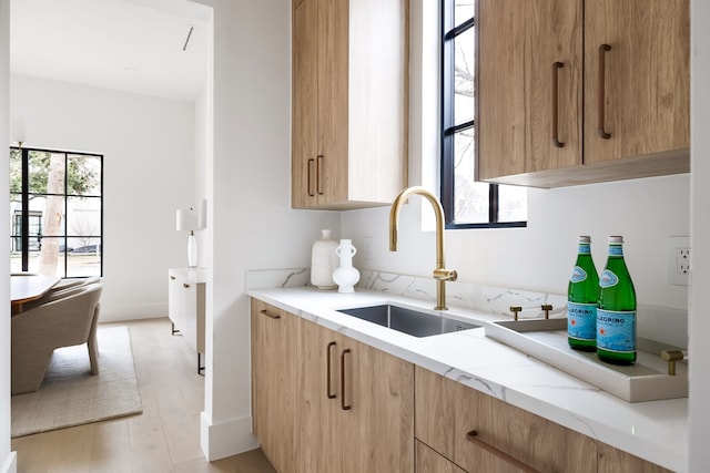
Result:
M636 362L636 291L623 261L623 238L609 237L609 257L599 278L597 357L613 364Z

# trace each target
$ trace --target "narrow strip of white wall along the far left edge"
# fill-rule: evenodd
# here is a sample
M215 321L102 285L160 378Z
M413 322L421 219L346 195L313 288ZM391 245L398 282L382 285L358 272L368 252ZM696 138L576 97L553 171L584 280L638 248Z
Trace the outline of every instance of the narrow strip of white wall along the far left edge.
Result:
M10 137L10 0L0 0L0 143ZM10 169L0 166L0 195L10 192ZM0 206L0 222L10 222L10 208ZM4 227L10 232L10 226ZM9 235L9 233L6 233ZM10 259L0 259L0 274L8 275L0 285L0 300L10 300ZM17 471L17 455L10 452L10 305L0 310L0 472Z

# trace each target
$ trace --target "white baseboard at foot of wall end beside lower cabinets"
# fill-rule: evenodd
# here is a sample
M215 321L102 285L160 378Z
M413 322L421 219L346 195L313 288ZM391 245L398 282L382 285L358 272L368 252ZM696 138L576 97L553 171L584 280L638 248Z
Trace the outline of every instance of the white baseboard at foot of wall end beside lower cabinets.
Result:
M252 417L212 423L206 412L201 412L200 445L209 462L256 449L258 441L252 434Z

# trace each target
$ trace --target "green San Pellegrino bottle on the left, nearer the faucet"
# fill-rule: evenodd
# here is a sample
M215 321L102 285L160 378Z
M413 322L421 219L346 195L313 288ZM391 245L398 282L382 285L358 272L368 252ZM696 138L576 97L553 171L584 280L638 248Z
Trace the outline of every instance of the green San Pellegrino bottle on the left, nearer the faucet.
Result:
M597 350L599 276L591 259L591 238L578 239L577 263L567 286L567 341L575 350Z

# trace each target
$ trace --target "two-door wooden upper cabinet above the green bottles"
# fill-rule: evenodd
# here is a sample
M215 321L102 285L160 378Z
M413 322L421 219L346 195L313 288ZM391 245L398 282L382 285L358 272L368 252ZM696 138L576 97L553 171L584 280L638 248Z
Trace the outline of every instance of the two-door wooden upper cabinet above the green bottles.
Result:
M688 0L479 1L479 179L690 171Z

